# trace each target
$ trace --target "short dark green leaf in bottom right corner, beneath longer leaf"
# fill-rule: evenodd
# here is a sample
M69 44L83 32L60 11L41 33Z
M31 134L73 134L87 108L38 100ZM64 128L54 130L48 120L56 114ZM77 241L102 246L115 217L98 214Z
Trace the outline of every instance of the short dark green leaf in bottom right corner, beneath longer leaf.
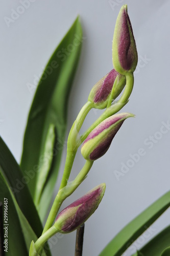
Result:
M141 255L144 256L169 256L170 255L170 226L163 229L160 233L157 234L149 243L144 245L140 249ZM133 254L137 256L138 254Z

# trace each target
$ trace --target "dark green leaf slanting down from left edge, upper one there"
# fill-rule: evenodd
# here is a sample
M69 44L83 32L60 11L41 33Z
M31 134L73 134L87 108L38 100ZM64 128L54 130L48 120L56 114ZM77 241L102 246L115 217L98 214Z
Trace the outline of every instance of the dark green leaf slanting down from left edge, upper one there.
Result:
M39 237L42 233L42 225L32 200L27 182L30 180L28 176L23 176L19 165L12 156L9 148L0 137L0 168L2 175L13 192L16 202L22 214L28 220L30 226ZM1 188L2 190L2 188ZM3 193L3 191L2 191Z

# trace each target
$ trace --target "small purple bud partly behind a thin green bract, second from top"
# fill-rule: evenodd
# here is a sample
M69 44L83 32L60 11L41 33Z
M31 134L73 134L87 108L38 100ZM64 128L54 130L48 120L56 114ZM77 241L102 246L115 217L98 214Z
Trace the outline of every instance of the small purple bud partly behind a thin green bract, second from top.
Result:
M117 77L118 76L118 77ZM126 77L120 75L114 69L112 69L106 76L99 80L91 89L88 97L88 101L94 103L94 108L105 109L113 88L114 81L117 77L117 82L113 94L113 99L122 92L126 84Z

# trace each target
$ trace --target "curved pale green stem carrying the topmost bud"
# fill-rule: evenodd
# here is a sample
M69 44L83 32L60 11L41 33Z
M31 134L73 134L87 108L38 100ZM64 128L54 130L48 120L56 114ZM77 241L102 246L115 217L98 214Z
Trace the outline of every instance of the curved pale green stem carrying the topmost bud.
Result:
M109 108L105 110L105 112L86 130L86 132L81 136L81 143L87 138L89 133L102 121L104 121L106 118L114 115L117 113L119 110L123 108L124 105L128 103L128 99L132 93L133 90L133 83L134 83L134 77L132 73L127 73L126 75L126 87L125 91L120 97L120 99L111 105Z

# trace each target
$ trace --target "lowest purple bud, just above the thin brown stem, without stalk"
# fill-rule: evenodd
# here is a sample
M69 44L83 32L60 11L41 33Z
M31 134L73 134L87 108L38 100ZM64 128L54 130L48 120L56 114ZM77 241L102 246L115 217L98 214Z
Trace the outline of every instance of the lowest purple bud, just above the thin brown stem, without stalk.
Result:
M68 233L81 226L98 208L105 189L106 184L100 184L63 209L54 224L56 229L61 233Z

